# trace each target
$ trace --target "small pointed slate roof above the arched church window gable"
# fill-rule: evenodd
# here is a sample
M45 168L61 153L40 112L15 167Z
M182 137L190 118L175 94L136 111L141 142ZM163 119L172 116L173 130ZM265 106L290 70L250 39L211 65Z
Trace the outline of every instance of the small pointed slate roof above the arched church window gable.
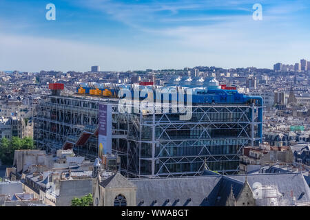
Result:
M104 188L136 188L132 181L129 181L120 173L107 177L107 179L101 181L100 185Z

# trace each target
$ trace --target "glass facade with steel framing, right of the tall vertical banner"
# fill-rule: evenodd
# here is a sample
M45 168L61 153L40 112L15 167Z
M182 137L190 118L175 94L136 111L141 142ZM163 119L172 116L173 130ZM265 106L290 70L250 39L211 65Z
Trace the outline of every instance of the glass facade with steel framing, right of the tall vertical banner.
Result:
M205 161L209 170L236 174L242 148L261 141L260 108L254 103L196 105L188 121L179 120L171 105L161 113L127 113L127 174L200 175Z

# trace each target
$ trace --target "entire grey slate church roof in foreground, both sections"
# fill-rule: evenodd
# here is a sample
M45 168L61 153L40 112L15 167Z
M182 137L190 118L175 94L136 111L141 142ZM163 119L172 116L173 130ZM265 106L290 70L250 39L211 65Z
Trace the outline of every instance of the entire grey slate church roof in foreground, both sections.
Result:
M237 198L246 175L205 175L200 177L167 177L130 179L136 187L137 206L225 206L233 188ZM109 179L109 178L108 178ZM291 205L310 202L310 188L302 173L259 173L247 175L251 190L254 183L276 186L283 201ZM293 197L292 197L293 195ZM258 206L267 206L268 199L258 199Z

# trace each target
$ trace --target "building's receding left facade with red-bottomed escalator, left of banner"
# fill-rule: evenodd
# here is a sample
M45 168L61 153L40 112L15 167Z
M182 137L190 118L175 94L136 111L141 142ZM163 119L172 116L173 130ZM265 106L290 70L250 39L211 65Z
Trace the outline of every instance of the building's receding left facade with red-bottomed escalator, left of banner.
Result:
M99 104L104 102L107 103L107 100L43 96L34 111L34 140L37 147L49 153L61 148L74 148L77 155L94 160L98 155L98 109ZM109 100L109 103L113 105L113 100ZM118 129L117 114L113 114L113 118L114 145L119 146L117 139L124 137L125 133ZM118 147L115 149L119 150Z

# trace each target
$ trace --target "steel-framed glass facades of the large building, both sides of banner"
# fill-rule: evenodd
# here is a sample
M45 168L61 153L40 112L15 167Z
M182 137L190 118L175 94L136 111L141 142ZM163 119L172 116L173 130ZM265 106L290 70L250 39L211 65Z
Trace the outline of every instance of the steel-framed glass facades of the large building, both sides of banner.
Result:
M121 157L121 171L128 177L200 175L204 165L236 174L242 148L261 141L262 105L254 102L193 105L192 118L186 121L171 104L149 111L137 102L132 110L141 111L121 113L117 99L43 96L34 113L37 146L48 152L73 148L77 155L95 159L103 103L112 104L112 150Z

